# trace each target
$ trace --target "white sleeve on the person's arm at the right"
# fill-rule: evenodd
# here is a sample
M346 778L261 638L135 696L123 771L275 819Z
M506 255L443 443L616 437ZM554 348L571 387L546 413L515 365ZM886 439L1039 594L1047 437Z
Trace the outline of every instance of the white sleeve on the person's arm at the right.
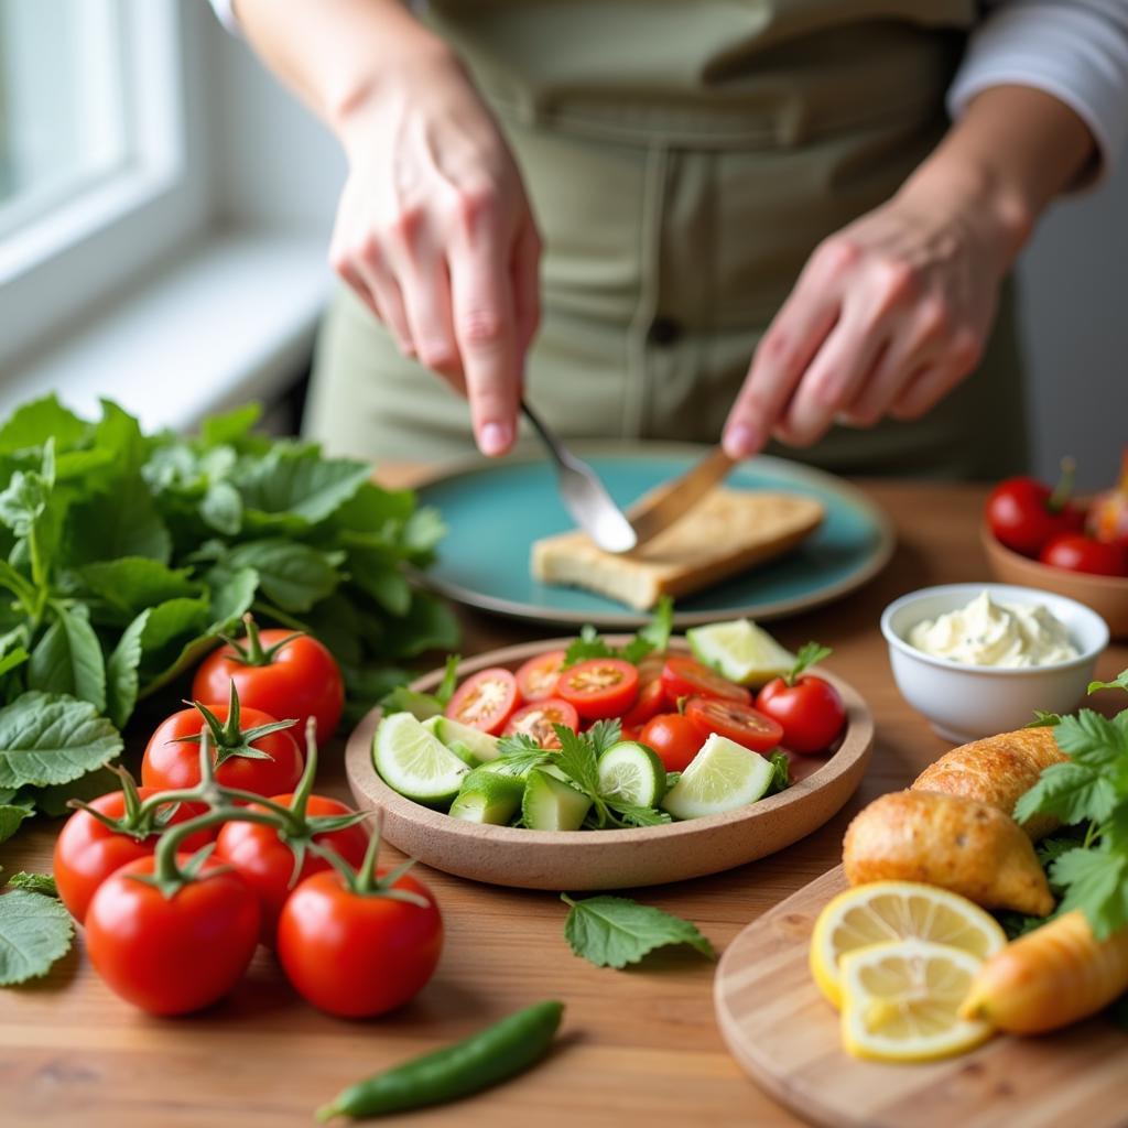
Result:
M1128 141L1128 0L995 0L948 91L959 118L992 86L1030 86L1064 102L1096 139L1100 175Z

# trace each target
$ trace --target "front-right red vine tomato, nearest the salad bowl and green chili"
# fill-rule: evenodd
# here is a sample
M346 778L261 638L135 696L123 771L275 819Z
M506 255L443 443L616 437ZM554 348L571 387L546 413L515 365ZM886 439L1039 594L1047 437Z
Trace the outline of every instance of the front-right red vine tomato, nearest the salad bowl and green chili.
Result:
M355 893L336 871L315 873L290 895L279 919L279 960L306 999L345 1019L384 1014L423 988L442 951L442 917L411 874L395 889L426 907Z

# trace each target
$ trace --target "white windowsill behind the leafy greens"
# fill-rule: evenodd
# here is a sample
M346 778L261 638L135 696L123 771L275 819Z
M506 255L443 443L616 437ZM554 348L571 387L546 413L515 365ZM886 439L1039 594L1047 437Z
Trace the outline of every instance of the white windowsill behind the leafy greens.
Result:
M323 238L215 232L138 290L0 374L0 414L54 391L106 397L146 430L281 395L308 361L329 292Z

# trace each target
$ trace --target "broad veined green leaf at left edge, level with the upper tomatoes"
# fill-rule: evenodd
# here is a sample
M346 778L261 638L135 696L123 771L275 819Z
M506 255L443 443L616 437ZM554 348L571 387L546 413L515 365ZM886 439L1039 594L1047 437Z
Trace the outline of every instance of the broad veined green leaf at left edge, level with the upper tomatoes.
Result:
M0 708L0 787L69 783L121 751L89 702L32 691Z

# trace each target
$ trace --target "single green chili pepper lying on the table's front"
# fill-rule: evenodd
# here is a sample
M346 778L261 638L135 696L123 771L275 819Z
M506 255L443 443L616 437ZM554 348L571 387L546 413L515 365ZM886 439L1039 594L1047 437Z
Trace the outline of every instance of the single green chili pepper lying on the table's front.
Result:
M563 1014L563 1003L536 1003L453 1046L350 1085L317 1110L317 1119L379 1117L488 1089L539 1061Z

